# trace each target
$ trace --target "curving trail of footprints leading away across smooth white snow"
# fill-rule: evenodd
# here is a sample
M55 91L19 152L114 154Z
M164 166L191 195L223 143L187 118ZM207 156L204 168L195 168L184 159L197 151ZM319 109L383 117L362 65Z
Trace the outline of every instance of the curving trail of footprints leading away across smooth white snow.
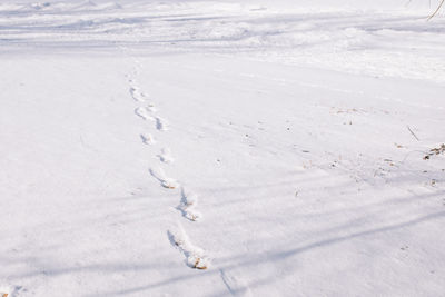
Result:
M154 122L156 128L156 132L168 131L168 121L158 115L158 109L155 107L151 98L141 91L139 86L135 81L135 77L138 75L138 68L141 67L141 63L137 60L135 71L131 78L128 80L129 82L129 92L131 98L138 103L135 109L135 115L140 117L145 121ZM152 133L141 133L140 139L145 145L155 145L157 143L156 138ZM169 148L162 148L160 154L157 155L159 161L169 165L175 161L171 156L171 151ZM198 196L192 192L186 190L179 181L174 178L167 177L161 167L157 170L150 168L150 175L157 179L164 188L167 189L180 189L180 202L176 209L178 209L184 218L187 218L190 221L198 221L202 216L199 211L196 210L196 206L198 204ZM207 269L210 264L210 258L207 256L206 251L197 246L194 246L190 242L186 231L182 226L179 224L176 230L168 230L168 238L170 242L186 257L186 263L189 267L196 269Z

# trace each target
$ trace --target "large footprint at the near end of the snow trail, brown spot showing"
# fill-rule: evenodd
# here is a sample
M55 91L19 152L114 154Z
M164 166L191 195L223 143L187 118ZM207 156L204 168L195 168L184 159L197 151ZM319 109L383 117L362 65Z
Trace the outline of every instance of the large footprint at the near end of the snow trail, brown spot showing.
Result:
M167 236L170 240L170 244L184 254L187 266L201 270L205 270L209 267L209 257L201 248L196 247L190 242L188 236L180 225L176 231L167 231Z

